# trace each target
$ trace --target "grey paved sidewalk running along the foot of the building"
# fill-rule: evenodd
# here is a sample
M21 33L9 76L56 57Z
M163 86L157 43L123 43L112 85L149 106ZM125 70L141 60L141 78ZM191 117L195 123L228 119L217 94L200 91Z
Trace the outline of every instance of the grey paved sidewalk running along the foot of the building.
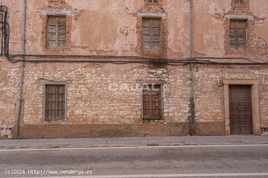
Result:
M123 138L72 138L0 140L0 149L122 147L122 146L191 146L191 145L268 145L268 136L172 136Z

